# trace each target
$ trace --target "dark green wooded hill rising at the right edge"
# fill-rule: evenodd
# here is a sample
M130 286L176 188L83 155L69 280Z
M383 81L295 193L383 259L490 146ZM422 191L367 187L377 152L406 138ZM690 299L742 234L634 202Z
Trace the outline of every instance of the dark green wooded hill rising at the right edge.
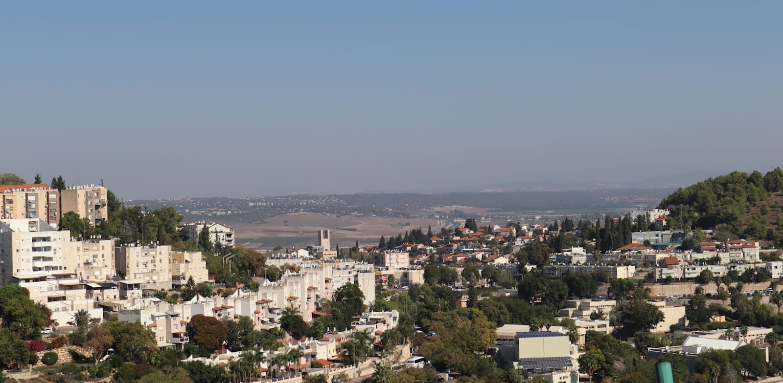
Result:
M714 228L723 237L783 243L783 170L734 171L680 188L663 199L669 227Z

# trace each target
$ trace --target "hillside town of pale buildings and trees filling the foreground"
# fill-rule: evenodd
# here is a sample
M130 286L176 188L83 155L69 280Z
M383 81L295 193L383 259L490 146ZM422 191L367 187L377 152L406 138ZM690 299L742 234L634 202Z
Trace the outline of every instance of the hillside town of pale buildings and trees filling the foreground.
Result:
M677 228L673 209L468 218L343 249L322 229L262 253L230 224L182 216L153 240L144 227L164 210L130 233L139 210L103 186L0 191L0 364L16 381L58 366L118 382L651 381L656 361L680 381L783 371L781 252Z

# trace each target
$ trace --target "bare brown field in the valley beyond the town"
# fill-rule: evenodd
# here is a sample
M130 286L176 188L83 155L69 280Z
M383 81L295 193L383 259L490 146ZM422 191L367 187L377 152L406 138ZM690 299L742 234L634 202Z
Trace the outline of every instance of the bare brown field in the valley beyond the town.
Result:
M317 231L330 230L332 244L345 247L359 241L360 245L377 243L381 235L386 237L405 233L421 227L425 231L440 230L438 220L425 218L334 216L322 213L291 213L265 220L263 224L227 222L234 227L237 242L256 249L271 249L275 245L305 246L316 242ZM345 230L345 229L355 229Z

